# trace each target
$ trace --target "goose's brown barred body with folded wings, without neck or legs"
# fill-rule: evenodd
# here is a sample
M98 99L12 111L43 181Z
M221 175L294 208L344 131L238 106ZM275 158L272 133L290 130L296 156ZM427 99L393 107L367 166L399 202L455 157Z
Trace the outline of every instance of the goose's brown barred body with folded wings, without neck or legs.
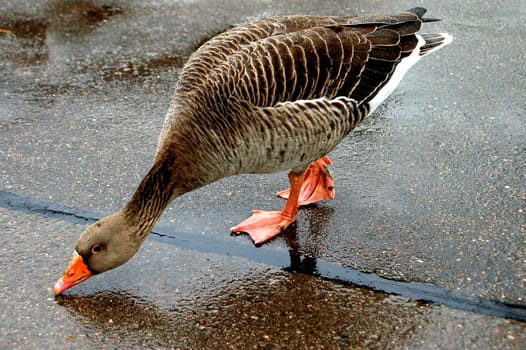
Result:
M304 168L363 120L422 45L422 15L270 17L219 34L180 75L158 158L184 139L177 154L202 168L203 183Z

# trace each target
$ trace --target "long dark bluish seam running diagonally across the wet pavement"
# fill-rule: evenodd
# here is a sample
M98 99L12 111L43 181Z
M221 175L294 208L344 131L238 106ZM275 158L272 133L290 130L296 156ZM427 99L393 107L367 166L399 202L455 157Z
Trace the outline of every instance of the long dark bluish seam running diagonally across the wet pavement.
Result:
M74 224L89 224L102 217L87 211L61 206L28 196L20 196L3 190L0 190L0 207ZM303 257L303 260L301 260L301 256L295 255L293 251L285 252L283 249L265 246L256 248L252 245L239 243L235 238L224 241L207 237L205 240L202 239L202 236L175 232L170 227L160 225L155 227L149 238L157 242L168 243L202 253L242 257L258 263L284 268L287 271L306 273L323 280L365 287L377 292L399 295L414 301L526 322L526 305L523 304L476 299L471 296L448 292L444 288L430 283L390 280L376 274L353 270L322 259Z

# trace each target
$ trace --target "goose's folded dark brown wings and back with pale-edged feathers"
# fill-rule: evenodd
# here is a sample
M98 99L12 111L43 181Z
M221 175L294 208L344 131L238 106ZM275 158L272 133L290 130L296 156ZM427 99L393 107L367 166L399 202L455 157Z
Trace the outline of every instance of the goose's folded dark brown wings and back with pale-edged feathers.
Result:
M190 58L178 91L195 90L203 77L216 76L229 90L225 94L260 107L319 97L368 101L416 47L420 26L409 12L271 17L205 43Z

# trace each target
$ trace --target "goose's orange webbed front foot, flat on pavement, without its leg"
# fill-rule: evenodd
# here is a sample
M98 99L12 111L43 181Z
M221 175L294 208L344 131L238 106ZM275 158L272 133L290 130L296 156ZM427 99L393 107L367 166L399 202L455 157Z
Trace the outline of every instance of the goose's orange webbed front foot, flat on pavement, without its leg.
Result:
M252 211L252 216L230 229L232 233L247 233L254 244L260 245L276 237L283 232L294 217L284 214L282 211Z

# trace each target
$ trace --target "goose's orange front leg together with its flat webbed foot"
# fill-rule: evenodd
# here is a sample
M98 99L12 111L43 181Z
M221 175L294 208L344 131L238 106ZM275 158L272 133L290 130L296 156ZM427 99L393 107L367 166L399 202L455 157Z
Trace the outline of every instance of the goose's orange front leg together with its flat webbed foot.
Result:
M290 193L287 203L281 211L252 211L252 216L230 229L233 233L246 232L254 241L254 244L262 244L269 239L279 235L291 223L294 222L298 213L298 198L304 173L289 173Z

